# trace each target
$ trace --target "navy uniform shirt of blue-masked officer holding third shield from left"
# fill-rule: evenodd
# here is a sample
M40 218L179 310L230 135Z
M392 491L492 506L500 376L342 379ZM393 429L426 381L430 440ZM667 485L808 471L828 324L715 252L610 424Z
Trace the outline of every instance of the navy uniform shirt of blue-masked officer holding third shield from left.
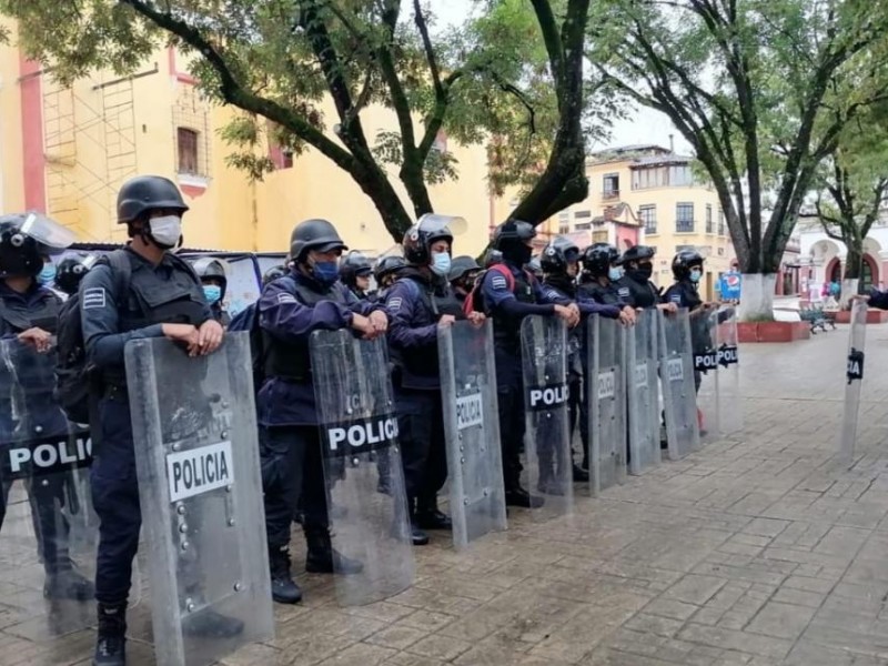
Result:
M273 280L264 286L259 299L260 326L280 343L309 345L314 331L339 331L352 325L354 313L370 315L382 306L360 301L344 285L336 284L342 302L322 300L314 305L299 301L289 286L290 282L322 291L316 281L294 271L285 278ZM256 412L263 426L315 426L317 410L314 386L311 382L292 382L283 377L268 377L256 397Z

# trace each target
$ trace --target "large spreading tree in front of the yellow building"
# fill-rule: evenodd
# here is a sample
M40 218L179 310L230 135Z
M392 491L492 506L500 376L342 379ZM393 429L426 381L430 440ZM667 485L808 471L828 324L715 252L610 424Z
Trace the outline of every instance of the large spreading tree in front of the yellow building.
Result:
M586 196L589 0L565 0L561 22L548 0L487 4L485 17L437 39L421 0L410 17L401 0L0 0L0 11L62 81L94 68L132 72L163 41L193 53L202 91L243 111L224 131L240 147L232 163L254 178L271 169L258 151L264 133L295 154L315 150L350 174L400 241L413 216L432 210L428 183L456 175L435 148L442 130L460 142L491 139L494 190L535 176L516 211L524 219L537 223ZM332 119L320 108L325 98ZM367 135L371 104L392 109L397 131Z

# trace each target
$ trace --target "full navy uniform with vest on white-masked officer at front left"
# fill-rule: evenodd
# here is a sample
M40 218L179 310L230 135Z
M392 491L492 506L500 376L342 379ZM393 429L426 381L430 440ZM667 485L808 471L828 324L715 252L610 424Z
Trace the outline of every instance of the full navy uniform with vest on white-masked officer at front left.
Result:
M95 598L105 605L127 602L142 523L123 349L130 340L162 337L164 323L200 326L213 319L198 276L183 260L167 253L154 265L129 248L125 252L132 266L127 293L115 293L115 276L104 263L80 284L87 355L103 385L91 486L100 518Z

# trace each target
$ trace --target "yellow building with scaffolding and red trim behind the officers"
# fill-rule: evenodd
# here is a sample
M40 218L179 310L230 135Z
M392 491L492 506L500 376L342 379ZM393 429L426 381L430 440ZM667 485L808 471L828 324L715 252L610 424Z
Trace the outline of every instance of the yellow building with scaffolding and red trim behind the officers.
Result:
M173 49L158 51L132 77L95 72L71 88L59 87L18 49L0 49L0 140L4 147L2 204L46 211L82 242L122 242L114 218L121 183L137 174L178 182L191 211L185 245L216 250L285 251L293 225L326 218L346 243L371 255L394 245L371 200L351 178L315 151L295 160L265 147L278 169L262 182L225 163L231 152L219 137L234 112L198 93ZM335 118L332 107L325 118ZM370 108L362 122L372 142L394 130L394 114ZM484 147L448 144L437 150L457 160L457 181L432 186L436 212L462 215L470 230L455 251L477 254L501 220L487 193ZM391 180L412 210L396 173Z

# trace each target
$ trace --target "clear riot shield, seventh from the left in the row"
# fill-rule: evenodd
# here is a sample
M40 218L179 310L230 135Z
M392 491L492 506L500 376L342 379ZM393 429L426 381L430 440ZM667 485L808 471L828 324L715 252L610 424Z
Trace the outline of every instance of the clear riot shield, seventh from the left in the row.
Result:
M657 387L657 313L640 311L626 331L629 472L660 462Z

